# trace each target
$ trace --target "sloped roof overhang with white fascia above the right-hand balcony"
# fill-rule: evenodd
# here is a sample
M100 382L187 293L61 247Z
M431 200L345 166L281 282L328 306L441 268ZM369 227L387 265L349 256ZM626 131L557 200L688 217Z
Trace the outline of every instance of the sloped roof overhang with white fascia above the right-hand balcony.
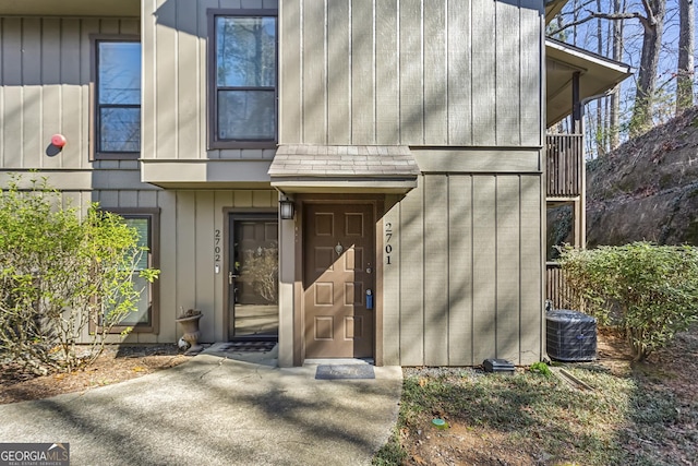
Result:
M546 38L547 119L545 124L547 128L571 113L571 86L575 72L579 72L579 99L582 103L602 97L633 74L631 68L625 63Z

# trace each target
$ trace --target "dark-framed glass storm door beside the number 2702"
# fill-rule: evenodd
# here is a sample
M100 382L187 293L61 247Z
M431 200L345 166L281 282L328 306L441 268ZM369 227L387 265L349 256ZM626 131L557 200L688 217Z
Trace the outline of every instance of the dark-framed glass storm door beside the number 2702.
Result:
M279 249L276 215L231 214L229 222L229 338L277 339Z

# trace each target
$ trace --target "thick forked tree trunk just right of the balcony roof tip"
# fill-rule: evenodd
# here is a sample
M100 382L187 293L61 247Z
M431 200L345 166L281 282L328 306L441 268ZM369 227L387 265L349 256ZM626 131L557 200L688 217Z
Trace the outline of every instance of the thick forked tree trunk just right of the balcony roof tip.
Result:
M652 127L652 104L657 88L659 52L662 46L664 13L666 11L666 0L646 0L642 4L647 16L640 20L645 34L635 93L635 108L630 122L630 138L642 134Z

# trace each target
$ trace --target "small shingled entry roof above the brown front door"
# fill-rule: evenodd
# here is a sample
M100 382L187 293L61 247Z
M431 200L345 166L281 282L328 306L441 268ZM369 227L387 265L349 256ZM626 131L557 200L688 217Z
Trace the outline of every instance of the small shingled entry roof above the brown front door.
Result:
M417 162L405 145L280 145L269 167L285 193L396 193L417 188Z

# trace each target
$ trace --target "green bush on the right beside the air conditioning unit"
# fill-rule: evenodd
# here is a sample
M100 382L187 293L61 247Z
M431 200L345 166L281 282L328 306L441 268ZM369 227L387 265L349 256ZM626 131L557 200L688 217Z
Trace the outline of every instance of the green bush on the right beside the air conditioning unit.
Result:
M646 359L698 316L698 249L634 242L561 249L573 308L617 325L635 360Z

